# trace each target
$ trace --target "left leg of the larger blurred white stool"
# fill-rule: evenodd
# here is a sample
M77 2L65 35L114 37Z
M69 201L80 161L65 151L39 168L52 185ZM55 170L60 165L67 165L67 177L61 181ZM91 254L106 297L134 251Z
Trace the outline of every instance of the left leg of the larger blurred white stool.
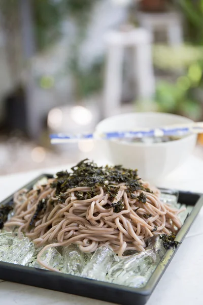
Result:
M102 115L108 117L120 107L122 94L123 47L109 45L105 71Z

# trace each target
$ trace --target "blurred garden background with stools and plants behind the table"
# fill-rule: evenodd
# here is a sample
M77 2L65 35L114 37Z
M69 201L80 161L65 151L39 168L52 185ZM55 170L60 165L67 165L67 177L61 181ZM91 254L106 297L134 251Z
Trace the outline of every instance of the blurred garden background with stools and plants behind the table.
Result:
M203 120L202 68L203 0L0 0L0 174L91 156L49 134L117 113Z

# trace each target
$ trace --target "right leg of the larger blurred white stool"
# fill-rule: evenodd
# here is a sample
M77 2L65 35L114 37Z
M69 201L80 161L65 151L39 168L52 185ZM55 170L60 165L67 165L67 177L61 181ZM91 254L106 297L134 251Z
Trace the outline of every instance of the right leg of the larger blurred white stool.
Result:
M151 99L155 92L155 79L152 65L151 44L140 44L135 50L135 68L137 69L138 96Z

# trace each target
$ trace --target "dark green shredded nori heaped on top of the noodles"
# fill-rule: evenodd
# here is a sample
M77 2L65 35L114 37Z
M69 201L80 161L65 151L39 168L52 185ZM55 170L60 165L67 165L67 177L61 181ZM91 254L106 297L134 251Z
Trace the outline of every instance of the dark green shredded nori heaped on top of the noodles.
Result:
M67 189L90 187L91 191L94 192L95 187L101 186L106 187L111 198L115 198L118 188L112 185L108 186L107 181L112 184L124 182L131 193L138 190L151 192L149 189L143 187L140 178L138 178L137 170L126 169L121 165L99 167L95 163L85 159L72 167L72 171L72 173L60 171L56 174L56 180L52 182L51 187L56 188L57 196L66 192Z

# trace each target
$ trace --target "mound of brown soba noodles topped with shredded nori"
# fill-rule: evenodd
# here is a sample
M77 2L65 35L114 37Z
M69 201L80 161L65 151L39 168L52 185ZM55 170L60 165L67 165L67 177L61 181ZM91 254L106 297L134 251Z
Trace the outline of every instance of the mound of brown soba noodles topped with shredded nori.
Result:
M127 250L144 251L146 241L161 233L176 233L182 226L180 211L162 203L160 192L121 166L97 167L83 160L72 172L59 172L37 189L14 196L14 216L6 228L43 247L75 243L83 252L109 245L122 256Z

